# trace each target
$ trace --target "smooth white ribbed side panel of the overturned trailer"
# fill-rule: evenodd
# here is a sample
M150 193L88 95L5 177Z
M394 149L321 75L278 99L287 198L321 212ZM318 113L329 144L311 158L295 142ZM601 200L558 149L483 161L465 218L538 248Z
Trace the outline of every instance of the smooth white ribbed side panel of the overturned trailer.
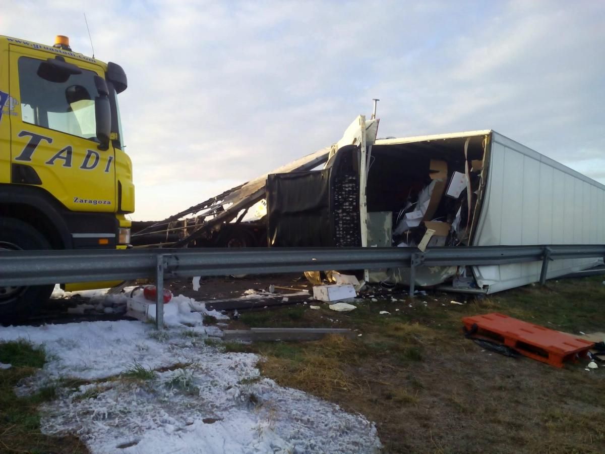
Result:
M486 198L474 246L605 243L605 186L493 132ZM598 265L593 258L558 260L548 278ZM476 266L494 293L536 282L541 262Z

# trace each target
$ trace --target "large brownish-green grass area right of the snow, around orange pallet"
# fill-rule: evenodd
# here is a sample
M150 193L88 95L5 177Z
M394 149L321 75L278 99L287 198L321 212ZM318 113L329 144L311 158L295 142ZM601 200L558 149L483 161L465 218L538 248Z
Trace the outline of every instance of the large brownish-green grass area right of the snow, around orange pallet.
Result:
M359 301L347 313L323 305L244 312L232 327L348 327L362 336L222 345L260 354L261 373L283 386L375 421L384 452L602 453L605 367L561 370L486 352L463 337L460 321L502 312L559 331L603 331L602 281L548 281L462 306L450 304L460 301L455 295L428 292L404 302Z

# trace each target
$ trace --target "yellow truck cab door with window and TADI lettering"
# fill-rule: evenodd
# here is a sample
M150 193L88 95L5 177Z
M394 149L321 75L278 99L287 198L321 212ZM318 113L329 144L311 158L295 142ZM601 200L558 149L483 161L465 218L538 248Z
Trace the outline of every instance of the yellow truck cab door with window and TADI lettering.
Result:
M53 75L56 59L77 68ZM9 72L11 183L39 186L71 211L116 211L114 149L96 137L94 76L103 68L10 45Z

